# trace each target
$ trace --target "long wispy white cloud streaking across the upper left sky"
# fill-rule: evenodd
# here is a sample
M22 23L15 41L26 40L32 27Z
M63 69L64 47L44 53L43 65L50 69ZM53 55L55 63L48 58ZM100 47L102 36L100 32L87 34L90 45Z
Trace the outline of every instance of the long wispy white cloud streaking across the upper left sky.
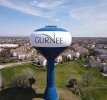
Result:
M39 16L48 19L54 18L54 21L56 21L58 19L56 18L56 13L58 12L57 8L63 5L65 1L54 0L42 2L41 0L31 0L27 3L26 2L26 0L18 0L17 2L16 0L0 0L0 5L33 16Z

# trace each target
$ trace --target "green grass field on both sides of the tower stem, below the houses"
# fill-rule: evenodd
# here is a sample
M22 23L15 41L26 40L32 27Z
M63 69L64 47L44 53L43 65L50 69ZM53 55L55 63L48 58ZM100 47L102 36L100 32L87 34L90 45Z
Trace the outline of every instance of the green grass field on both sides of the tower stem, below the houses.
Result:
M77 79L82 85L83 95L82 100L107 100L107 78L100 75L99 68L83 68L85 62L71 61L55 66L55 84L57 88L68 90L66 85L71 77ZM5 68L0 70L4 79L5 86L8 87L11 79L24 70L30 69L36 74L35 88L46 85L46 68L37 67L32 64L18 65L17 67ZM93 78L90 86L84 86L82 83L83 76L86 72L92 72ZM70 100L70 99L69 99Z

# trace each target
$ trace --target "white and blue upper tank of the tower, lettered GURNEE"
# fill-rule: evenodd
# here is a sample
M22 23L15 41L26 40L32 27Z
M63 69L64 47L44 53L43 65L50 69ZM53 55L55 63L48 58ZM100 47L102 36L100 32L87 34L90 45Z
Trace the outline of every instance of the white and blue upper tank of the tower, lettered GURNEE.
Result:
M31 34L31 44L34 47L68 47L71 45L71 34L57 26L46 26Z

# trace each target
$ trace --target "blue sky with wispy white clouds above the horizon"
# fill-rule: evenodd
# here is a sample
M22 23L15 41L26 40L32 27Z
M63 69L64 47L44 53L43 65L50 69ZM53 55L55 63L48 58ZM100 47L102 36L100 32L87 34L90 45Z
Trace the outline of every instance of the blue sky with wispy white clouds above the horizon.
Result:
M46 25L107 37L107 0L0 0L0 36L30 36Z

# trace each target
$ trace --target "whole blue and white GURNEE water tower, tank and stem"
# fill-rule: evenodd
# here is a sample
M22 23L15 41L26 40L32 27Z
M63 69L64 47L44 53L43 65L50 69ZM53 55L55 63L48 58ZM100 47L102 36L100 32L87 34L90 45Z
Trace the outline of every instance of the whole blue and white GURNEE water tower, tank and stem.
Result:
M54 60L71 45L71 34L57 26L46 26L31 34L31 45L47 59L47 86L43 98L58 100L54 85Z

